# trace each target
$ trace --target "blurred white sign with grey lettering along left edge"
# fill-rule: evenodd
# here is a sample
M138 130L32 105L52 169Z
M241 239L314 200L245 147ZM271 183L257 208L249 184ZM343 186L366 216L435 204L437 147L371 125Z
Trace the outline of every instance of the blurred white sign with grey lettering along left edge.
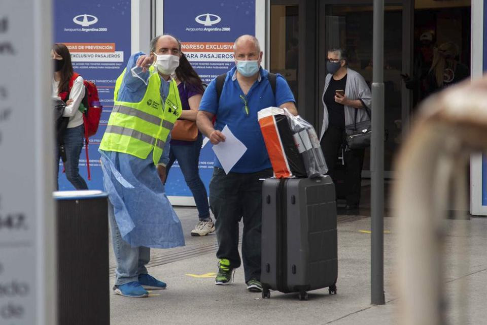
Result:
M0 324L56 324L51 2L0 1Z

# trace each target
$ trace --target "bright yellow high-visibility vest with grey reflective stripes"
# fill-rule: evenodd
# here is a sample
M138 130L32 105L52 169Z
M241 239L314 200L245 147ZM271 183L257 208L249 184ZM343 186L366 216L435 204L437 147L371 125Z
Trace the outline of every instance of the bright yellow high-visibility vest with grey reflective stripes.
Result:
M154 67L150 67L154 71ZM117 100L125 70L115 83L114 102L107 130L100 143L100 149L128 153L146 159L153 151L154 165L164 150L167 135L181 115L181 99L175 80L169 84L169 94L164 105L161 100L161 79L158 73L149 78L146 93L138 103Z

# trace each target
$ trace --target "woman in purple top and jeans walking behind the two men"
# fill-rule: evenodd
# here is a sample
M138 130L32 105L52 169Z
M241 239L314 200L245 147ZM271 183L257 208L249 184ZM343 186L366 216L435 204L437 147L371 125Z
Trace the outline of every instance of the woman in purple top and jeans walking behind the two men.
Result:
M191 67L191 64L184 53L181 54L179 67L176 69L175 74L172 75L178 84L179 96L183 107L179 119L196 121L199 102L201 101L204 92L203 83ZM175 124L175 128L177 128L177 124ZM169 163L166 166L167 174L174 161L178 160L184 180L193 193L193 198L198 209L199 221L191 231L191 236L206 236L215 231L215 225L210 216L206 188L199 177L198 171L199 153L201 151L203 137L201 133L198 132L194 141L183 141L174 139L174 132L172 135L173 139L170 143Z

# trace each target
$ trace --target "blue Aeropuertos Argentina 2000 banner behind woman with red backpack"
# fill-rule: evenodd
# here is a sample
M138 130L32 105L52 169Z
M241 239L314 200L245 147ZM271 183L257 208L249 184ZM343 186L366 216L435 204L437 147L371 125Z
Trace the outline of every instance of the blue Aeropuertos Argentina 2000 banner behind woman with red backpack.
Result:
M80 174L90 189L103 189L98 147L113 108L115 80L130 57L131 13L128 0L54 0L54 41L69 48L73 68L98 88L103 111L95 136L89 139L88 181L86 152L80 156ZM60 163L59 190L73 189Z

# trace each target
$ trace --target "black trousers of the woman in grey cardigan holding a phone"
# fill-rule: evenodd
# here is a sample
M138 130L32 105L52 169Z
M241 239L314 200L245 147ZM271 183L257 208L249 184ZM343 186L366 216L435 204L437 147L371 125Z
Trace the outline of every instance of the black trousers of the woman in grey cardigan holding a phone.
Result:
M320 143L323 154L325 155L326 165L328 166L328 175L330 175L333 181L336 181L335 164L344 141L344 134L345 132L342 127L329 125ZM360 203L364 154L365 149L353 149L345 151L343 156L347 205L358 205Z

